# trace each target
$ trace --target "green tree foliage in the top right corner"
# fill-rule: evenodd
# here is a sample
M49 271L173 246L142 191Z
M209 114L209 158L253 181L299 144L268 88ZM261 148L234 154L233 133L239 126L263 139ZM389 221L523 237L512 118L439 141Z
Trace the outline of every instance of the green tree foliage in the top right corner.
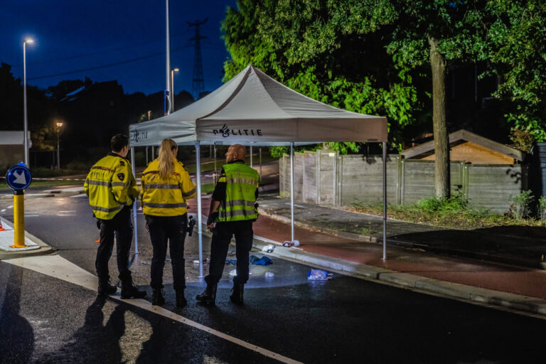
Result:
M494 94L508 102L514 129L546 141L546 2L491 0L495 21L488 28L491 62L500 85Z

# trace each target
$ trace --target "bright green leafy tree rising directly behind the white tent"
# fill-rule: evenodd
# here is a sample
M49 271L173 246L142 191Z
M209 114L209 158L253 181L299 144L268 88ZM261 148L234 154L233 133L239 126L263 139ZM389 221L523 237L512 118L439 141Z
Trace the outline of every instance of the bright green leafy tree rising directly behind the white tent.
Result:
M373 1L368 1L373 2ZM249 64L315 100L364 114L386 115L392 146L422 109L404 65L386 51L385 14L361 0L237 1L222 23L231 59L225 80ZM333 144L358 151L360 145Z

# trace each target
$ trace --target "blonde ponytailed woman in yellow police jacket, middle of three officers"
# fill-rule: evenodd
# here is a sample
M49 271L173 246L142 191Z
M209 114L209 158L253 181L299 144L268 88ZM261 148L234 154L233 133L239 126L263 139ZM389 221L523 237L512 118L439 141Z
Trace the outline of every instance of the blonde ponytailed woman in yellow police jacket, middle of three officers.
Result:
M184 297L184 240L188 226L186 200L196 196L196 186L183 164L176 160L177 152L178 146L172 139L161 142L159 157L151 161L142 173L141 205L154 251L150 272L150 286L154 290L151 304L165 303L163 269L168 240L176 306L183 307L187 304Z

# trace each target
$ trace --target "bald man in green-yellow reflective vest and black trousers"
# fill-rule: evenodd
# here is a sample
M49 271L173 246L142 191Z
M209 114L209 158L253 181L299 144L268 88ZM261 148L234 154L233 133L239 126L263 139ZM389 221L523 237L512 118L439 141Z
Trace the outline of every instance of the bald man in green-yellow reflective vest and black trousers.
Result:
M225 154L225 164L215 186L207 225L213 231L210 243L209 274L205 277L207 287L196 299L200 304L213 306L216 288L228 255L230 240L235 235L235 255L237 256L237 275L233 278L230 300L242 304L245 283L248 281L249 257L254 232L252 223L258 218L256 199L258 197L259 175L245 165L245 146L234 144ZM215 225L215 226L214 226Z

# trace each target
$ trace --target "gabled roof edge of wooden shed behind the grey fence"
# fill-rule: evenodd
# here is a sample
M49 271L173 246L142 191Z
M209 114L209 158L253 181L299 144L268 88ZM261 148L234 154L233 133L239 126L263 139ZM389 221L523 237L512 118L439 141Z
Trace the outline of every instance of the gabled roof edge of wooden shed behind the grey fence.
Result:
M474 144L478 144L485 148L491 149L506 156L511 156L513 159L518 161L523 161L525 158L525 153L519 149L512 148L505 144L498 143L491 139L481 137L478 134L469 132L468 130L461 129L457 132L449 134L449 145L459 144L463 141L471 141ZM427 143L414 146L413 148L406 149L405 151L400 152L405 159L414 158L422 154L432 154L434 153L434 140L428 141Z

